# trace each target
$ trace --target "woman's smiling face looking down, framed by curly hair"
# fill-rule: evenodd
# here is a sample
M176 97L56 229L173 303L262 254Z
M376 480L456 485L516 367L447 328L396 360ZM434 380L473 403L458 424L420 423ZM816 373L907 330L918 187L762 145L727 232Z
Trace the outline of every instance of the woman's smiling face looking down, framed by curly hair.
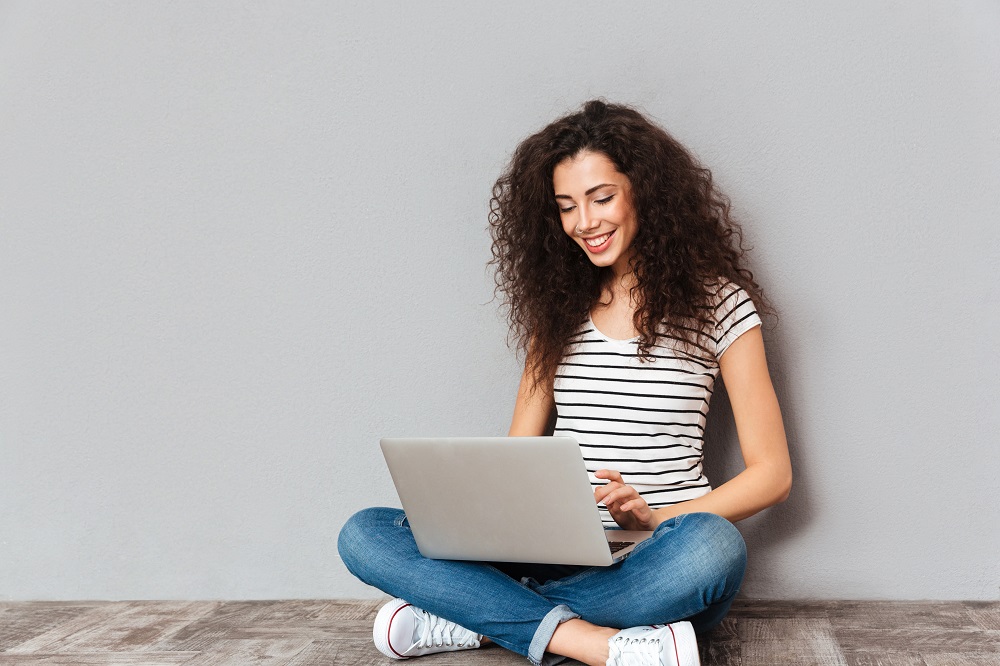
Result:
M595 266L624 275L638 230L628 177L603 153L583 151L556 165L552 185L566 235Z

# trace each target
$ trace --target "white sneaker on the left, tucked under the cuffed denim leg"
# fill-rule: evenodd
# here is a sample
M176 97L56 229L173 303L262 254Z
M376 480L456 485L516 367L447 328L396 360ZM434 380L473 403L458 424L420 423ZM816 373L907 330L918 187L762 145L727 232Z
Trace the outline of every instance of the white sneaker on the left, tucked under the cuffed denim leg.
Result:
M391 659L479 647L482 635L431 615L402 599L393 599L375 616L375 647Z

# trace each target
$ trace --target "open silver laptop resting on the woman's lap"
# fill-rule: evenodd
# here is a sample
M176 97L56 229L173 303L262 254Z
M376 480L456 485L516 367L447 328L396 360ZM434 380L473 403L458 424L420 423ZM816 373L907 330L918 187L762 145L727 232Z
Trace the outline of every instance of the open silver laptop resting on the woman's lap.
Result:
M609 566L652 532L606 530L572 437L381 440L424 557Z

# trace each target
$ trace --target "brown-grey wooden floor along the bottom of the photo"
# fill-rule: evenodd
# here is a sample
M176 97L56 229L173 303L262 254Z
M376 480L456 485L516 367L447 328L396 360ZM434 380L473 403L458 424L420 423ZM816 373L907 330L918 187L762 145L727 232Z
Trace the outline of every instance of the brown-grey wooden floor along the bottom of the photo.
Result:
M399 663L372 644L381 603L0 603L0 665ZM1000 603L740 600L699 643L705 666L1000 666ZM493 645L416 663L528 662Z

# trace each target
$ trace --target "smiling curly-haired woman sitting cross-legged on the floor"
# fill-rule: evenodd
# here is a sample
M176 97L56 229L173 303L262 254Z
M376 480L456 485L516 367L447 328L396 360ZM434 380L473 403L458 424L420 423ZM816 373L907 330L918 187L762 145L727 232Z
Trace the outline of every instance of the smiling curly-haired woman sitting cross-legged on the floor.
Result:
M490 225L526 356L510 435L545 433L555 412L606 524L655 531L611 567L452 562L421 557L401 511L361 511L341 557L399 597L376 645L394 658L492 640L534 664L698 664L695 631L722 621L743 579L732 522L791 487L766 303L728 202L663 129L592 101L518 146ZM712 489L701 447L720 372L746 469Z

